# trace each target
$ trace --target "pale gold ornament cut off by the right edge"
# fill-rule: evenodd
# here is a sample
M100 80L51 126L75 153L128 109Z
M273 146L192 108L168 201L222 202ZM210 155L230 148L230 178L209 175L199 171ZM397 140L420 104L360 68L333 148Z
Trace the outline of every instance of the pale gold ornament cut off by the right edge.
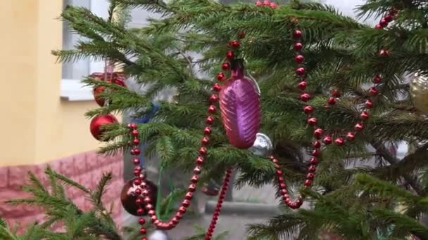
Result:
M410 95L412 96L413 105L420 112L428 113L428 77L419 72L415 73L410 81Z

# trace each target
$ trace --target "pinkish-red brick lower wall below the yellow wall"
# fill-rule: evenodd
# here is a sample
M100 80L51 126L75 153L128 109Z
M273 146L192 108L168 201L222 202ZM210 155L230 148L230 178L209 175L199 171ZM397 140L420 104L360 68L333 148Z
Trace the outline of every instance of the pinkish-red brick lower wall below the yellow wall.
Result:
M115 222L120 224L120 215L122 212L120 190L123 186L122 159L123 156L121 154L117 156L99 156L95 152L82 152L64 159L51 161L47 164L54 171L79 182L89 189L94 189L103 173L111 171L113 173L113 180L103 196L103 204L107 209L110 209L111 204L114 204L112 216ZM46 164L0 167L0 215L9 224L14 225L18 223L20 226L19 229L22 230L25 225L34 222L34 220L44 220L43 211L39 208L23 204L12 206L6 204L4 201L30 196L21 190L23 183L28 182L28 171L32 171L46 185L45 168ZM85 199L80 190L71 187L66 189L66 192L68 197L83 211L91 208L90 202Z

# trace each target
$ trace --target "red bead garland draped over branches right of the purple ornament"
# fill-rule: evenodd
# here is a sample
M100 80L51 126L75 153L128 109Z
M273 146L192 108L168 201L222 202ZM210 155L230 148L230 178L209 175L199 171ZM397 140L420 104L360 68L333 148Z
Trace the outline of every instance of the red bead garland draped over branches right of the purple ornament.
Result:
M389 13L385 15L384 18L382 18L382 20L380 20L379 24L376 25L376 28L383 29L384 27L386 27L389 24L389 22L394 20L394 16L396 15L396 13L397 11L395 10L389 11ZM304 79L304 76L306 75L306 69L302 65L304 62L304 57L301 54L301 50L303 48L303 44L300 41L301 36L302 36L302 32L300 29L294 30L292 34L293 39L296 40L293 46L294 50L296 51L296 56L294 57L294 61L298 65L296 68L296 75L300 79L300 81L298 82L298 88L301 90L300 100L302 102L307 102L308 100L310 100L311 96L309 93L305 92L306 86L308 84L306 79ZM389 51L385 49L381 49L379 51L379 55L382 57L387 56L388 54L389 54ZM370 97L374 97L378 94L377 86L381 81L382 81L381 76L379 76L378 74L374 76L374 78L372 79L372 83L374 84L374 86L372 86L368 91ZM339 97L340 97L340 92L334 89L332 91L332 96L327 100L327 104L328 104L327 106L334 105L336 103L336 98L339 98ZM358 121L358 123L355 124L355 126L353 127L354 131L349 131L348 133L346 133L345 138L348 141L354 140L356 133L363 131L365 127L363 121L366 121L370 116L368 113L368 109L371 109L373 107L373 102L370 98L367 98L364 104L365 104L365 110L360 113L360 121ZM310 187L312 185L313 178L315 178L316 165L318 163L317 157L320 156L321 154L320 148L322 147L322 144L319 140L324 135L324 130L322 128L317 127L317 119L315 118L315 116L313 116L313 111L314 111L314 107L311 105L306 105L305 107L303 107L303 112L305 112L308 115L307 123L310 126L313 126L315 128L315 130L313 131L314 142L313 142L313 150L311 152L312 158L310 159L306 180L303 183L305 187ZM332 144L332 142L333 140L330 135L324 135L324 138L322 139L322 143L324 143L324 145L330 145ZM343 146L345 144L345 139L339 136L334 140L334 143L338 146ZM284 200L284 204L286 204L290 208L294 208L294 209L299 208L303 204L303 196L299 196L298 199L295 201L291 200L287 191L287 185L285 184L284 177L282 176L281 166L279 165L277 159L275 159L275 156L270 156L270 160L275 164L275 168L277 169L277 182L279 185L279 191L282 195L282 199Z

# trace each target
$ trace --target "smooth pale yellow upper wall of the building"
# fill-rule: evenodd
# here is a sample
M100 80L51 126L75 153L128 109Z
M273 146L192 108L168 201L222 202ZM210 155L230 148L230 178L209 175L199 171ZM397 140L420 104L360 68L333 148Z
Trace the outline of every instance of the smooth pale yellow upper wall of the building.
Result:
M60 100L61 0L4 1L0 8L0 166L37 164L96 149L84 112Z

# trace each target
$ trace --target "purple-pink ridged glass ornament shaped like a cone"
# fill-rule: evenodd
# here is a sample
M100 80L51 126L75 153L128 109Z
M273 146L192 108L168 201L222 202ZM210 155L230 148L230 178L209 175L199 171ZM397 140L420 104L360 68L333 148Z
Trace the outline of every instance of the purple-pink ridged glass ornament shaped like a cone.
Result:
M232 76L222 86L220 110L229 143L241 149L253 146L260 126L260 100L240 60L232 62Z

